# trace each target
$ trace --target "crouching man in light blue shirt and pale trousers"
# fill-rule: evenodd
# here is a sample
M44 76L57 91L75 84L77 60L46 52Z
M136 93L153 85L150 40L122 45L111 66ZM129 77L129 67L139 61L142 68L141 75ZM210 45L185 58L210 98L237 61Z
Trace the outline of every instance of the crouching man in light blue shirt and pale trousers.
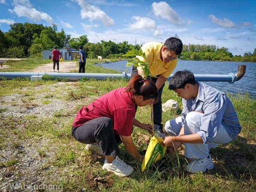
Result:
M169 89L182 97L181 117L165 124L166 136L162 145L178 149L185 145L185 157L194 159L187 166L191 173L213 169L209 150L218 143L235 139L242 127L230 98L212 86L200 83L190 71L177 71Z

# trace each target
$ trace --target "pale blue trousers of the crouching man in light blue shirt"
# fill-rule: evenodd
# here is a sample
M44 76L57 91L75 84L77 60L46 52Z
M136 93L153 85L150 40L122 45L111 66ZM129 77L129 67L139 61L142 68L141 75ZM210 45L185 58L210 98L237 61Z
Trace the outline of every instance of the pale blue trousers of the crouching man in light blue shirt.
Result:
M190 112L186 116L184 124L184 134L193 134L200 131L201 118L204 114L199 112ZM177 136L181 130L181 117L171 119L165 123L165 131L171 136ZM231 142L231 137L228 135L225 128L221 125L218 128L217 134L213 143L228 143ZM209 155L208 144L184 143L185 157L187 158L207 158Z

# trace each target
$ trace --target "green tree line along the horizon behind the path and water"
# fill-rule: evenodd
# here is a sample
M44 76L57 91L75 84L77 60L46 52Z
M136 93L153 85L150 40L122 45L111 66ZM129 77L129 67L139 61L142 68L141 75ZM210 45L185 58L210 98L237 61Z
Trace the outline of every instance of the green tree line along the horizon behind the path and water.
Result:
M77 49L83 46L87 58L118 58L134 47L141 49L142 45L135 46L127 41L115 43L113 41L100 41L90 43L87 35L71 38L63 29L59 32L56 25L43 26L35 23L14 23L10 25L8 32L0 29L0 56L11 58L42 57L41 50L53 49L54 46L61 48ZM123 56L124 58L124 56ZM256 49L253 53L245 53L243 56L228 52L225 47L216 47L207 44L183 45L183 51L179 56L185 60L207 60L207 61L247 61L256 62Z

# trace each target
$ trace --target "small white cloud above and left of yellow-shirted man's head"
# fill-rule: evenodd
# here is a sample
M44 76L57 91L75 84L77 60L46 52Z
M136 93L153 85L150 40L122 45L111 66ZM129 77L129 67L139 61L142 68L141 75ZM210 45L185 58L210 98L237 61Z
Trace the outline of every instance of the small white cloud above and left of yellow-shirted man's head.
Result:
M132 29L154 29L156 28L156 23L154 20L149 19L148 17L139 17L133 16L133 20L136 20L134 23L129 24L129 28Z

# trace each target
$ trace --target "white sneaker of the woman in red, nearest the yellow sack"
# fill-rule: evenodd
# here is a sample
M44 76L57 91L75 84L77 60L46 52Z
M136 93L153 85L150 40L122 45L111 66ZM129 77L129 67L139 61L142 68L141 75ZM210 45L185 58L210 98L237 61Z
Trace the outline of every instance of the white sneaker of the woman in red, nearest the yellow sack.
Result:
M110 172L113 172L115 173L115 175L118 175L118 176L129 176L130 174L133 173L132 166L129 166L126 163L124 163L124 161L120 160L118 156L115 157L112 163L108 163L108 161L105 159L105 162L102 168Z

